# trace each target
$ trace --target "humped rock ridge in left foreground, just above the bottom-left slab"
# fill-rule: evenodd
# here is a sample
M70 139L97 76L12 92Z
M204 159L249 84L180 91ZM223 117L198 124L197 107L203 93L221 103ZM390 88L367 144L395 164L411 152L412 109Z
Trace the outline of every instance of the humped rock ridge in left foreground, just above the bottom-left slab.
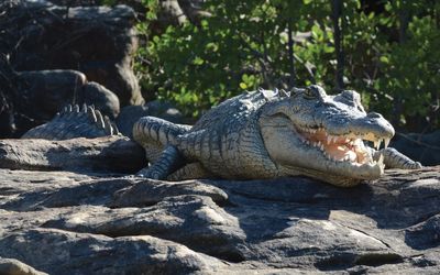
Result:
M42 227L113 238L154 235L231 262L242 261L238 246L245 240L235 217L210 198L190 195L143 208L77 207Z

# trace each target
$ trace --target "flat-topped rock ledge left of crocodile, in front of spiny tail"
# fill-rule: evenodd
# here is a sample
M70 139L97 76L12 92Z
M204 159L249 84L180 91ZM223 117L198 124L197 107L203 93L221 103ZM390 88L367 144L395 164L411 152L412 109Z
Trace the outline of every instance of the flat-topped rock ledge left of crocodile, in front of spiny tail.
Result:
M0 140L0 168L136 173L146 164L142 147L120 135L64 141Z

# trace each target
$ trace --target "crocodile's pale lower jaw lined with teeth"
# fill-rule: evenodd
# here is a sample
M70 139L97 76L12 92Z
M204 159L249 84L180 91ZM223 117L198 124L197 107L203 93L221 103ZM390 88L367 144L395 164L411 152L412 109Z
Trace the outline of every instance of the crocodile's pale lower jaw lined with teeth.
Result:
M286 117L262 117L260 127L264 145L283 176L306 175L338 186L353 186L361 179L376 179L384 173L383 161L373 161L372 150L361 147L361 138L378 140L373 133L348 133L346 138L352 136L352 141L360 146L358 151L349 152L334 151L338 145L342 145L341 139L345 139L344 136L330 135L334 142L330 141L324 145L321 138L326 138L327 141L328 136L319 136L322 134L319 130L315 133L315 130L298 130Z

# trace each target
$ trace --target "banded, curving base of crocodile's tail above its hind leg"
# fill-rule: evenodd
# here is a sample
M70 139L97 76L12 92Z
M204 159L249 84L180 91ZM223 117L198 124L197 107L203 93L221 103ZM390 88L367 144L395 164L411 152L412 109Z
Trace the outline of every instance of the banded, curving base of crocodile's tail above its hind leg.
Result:
M156 162L165 146L176 144L177 136L188 132L190 128L155 117L143 117L133 125L133 139L144 147L146 158Z

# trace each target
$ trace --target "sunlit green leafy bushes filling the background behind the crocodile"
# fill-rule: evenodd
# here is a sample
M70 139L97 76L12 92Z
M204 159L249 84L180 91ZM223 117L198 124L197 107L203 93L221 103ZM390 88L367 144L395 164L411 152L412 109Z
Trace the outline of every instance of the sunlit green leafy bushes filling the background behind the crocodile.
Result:
M150 24L158 1L143 2L147 14L139 30L148 41L138 57L147 62L136 64L143 91L175 101L187 114L199 116L257 87L336 87L333 1L207 0L204 10L211 16L169 25L154 36ZM440 6L435 2L382 1L377 13L360 0L342 2L345 88L402 123L432 117L439 96Z

